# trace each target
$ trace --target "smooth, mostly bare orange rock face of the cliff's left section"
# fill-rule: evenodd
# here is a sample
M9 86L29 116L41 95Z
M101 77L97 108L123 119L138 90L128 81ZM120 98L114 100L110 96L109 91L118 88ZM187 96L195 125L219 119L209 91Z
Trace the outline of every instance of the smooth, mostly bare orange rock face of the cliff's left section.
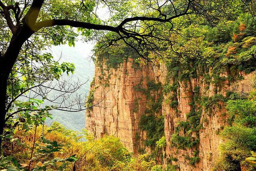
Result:
M138 153L145 137L139 130L139 122L146 109L147 96L135 88L146 87L146 80L154 79L154 72L148 67L138 68L130 59L117 69L104 69L106 66L96 65L91 87L95 89L95 106L86 111L86 129L96 138L105 134L119 137L129 151Z

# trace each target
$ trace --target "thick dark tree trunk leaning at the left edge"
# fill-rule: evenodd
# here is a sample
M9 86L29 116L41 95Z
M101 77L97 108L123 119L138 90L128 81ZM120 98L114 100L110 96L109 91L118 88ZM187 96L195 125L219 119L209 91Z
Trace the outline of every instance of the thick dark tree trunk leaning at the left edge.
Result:
M10 44L5 54L0 54L0 135L4 133L6 106L7 106L7 84L12 67L14 66L22 45L32 34L34 34L34 24L40 12L44 0L33 0L31 7L22 19L23 24L16 26ZM0 154L2 146L2 138L0 137Z

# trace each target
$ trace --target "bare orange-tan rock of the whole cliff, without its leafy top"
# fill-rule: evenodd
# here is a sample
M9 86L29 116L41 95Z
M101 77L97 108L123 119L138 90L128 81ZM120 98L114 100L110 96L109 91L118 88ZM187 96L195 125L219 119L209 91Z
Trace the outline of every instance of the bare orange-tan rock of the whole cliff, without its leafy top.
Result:
M181 171L213 169L218 158L218 146L222 142L218 132L227 124L222 97L226 96L230 84L228 70L222 73L222 82L216 84L211 77L211 69L207 74L212 82L198 70L196 76L177 80L167 76L165 64L158 68L138 66L131 59L117 69L106 68L96 64L95 82L91 86L94 89L94 106L86 111L86 129L96 138L105 134L119 137L130 151L140 153L146 148L146 133L140 130L139 122L149 99L144 92L136 91L136 87L147 87L148 80L154 80L162 85L160 90L151 94L155 102L163 95L162 108L155 115L164 116L164 165L176 165ZM167 85L175 88L164 91ZM202 102L204 98L208 103ZM190 126L182 127L181 123ZM189 137L191 144L175 145L172 142L174 136L181 139Z

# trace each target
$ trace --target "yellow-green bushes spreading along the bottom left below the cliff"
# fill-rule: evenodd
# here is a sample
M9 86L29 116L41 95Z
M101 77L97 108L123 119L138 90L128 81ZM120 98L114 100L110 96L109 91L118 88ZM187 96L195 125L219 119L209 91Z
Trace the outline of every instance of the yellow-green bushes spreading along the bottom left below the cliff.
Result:
M15 144L18 139L24 144L16 143L9 151L12 156L0 158L0 169L26 170L33 139L33 131L17 129L14 134ZM40 135L44 135L44 137ZM44 170L84 170L84 171L157 171L162 166L155 166L148 154L134 156L114 136L105 136L94 140L86 131L77 133L65 129L62 125L54 122L50 127L38 127L36 132L36 153L32 158L34 171ZM81 141L86 138L87 141ZM22 148L22 151L20 150ZM76 154L76 155L74 155Z

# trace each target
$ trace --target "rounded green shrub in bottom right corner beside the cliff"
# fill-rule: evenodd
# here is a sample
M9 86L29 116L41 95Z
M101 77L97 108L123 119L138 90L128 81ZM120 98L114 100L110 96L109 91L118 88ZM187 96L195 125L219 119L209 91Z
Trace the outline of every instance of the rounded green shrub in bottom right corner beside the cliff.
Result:
M220 159L217 166L225 170L240 170L241 165L253 170L244 160L250 151L256 150L256 128L236 124L225 127L220 133L225 143L220 145Z

